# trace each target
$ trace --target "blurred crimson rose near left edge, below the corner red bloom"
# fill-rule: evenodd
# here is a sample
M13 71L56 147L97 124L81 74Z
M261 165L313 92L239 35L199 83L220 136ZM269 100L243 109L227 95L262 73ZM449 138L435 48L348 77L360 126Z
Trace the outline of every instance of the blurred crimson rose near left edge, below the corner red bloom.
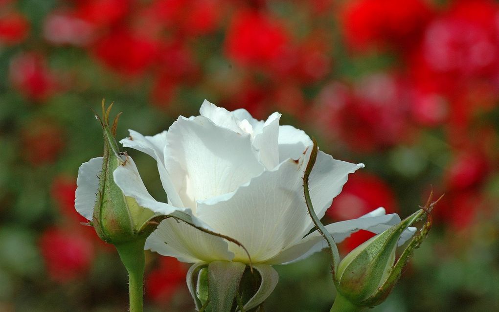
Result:
M21 53L12 57L8 77L14 88L35 101L46 100L56 91L55 75L41 54Z

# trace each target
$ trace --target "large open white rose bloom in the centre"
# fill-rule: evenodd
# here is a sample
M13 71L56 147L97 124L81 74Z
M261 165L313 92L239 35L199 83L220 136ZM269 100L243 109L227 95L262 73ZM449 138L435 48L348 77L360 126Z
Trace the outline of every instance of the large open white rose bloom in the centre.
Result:
M319 233L307 235L313 224L302 177L312 141L305 132L279 126L279 113L259 121L244 109L230 112L208 101L200 112L201 116L179 117L168 131L155 136L130 130L130 137L121 140L124 147L156 159L168 204L149 195L133 161L114 172L123 193L154 212L191 213L197 224L242 243L252 263L290 263L324 248ZM348 174L361 167L319 151L309 182L319 218L341 192ZM385 215L380 208L326 228L341 242L359 229L380 233L399 222L396 214ZM236 244L174 219L161 222L146 249L190 263L249 263Z

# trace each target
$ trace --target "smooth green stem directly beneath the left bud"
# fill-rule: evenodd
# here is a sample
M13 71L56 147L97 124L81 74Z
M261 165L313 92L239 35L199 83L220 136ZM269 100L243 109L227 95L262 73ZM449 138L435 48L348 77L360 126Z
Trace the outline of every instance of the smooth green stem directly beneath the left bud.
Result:
M130 293L130 312L143 312L145 239L115 245L121 262L128 271L130 278L128 287Z

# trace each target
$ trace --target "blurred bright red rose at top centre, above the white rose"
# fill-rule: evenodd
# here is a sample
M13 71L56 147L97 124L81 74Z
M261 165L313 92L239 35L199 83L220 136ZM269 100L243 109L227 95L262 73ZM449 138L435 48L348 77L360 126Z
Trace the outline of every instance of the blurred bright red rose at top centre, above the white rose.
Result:
M243 65L265 66L283 55L289 35L276 19L261 11L236 13L225 41L227 55Z

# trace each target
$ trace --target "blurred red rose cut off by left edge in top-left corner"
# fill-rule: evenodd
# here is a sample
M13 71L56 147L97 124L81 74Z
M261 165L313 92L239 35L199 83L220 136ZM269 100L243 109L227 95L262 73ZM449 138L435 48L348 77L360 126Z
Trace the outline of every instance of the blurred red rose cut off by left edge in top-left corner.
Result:
M27 37L29 20L17 12L0 15L0 43L6 45L18 44Z

